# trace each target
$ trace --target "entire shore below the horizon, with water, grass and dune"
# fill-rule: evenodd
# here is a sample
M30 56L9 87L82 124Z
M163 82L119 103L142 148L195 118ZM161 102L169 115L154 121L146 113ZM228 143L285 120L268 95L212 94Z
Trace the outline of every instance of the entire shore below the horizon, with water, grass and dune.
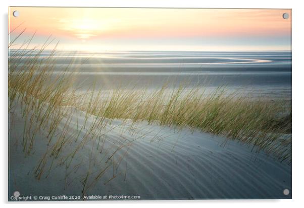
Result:
M10 195L291 198L289 52L12 50L10 67Z

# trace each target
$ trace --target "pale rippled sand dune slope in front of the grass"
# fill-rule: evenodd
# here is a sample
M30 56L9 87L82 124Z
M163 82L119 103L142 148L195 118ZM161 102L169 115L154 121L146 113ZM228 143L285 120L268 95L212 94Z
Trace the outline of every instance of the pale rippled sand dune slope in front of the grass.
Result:
M30 155L22 151L24 119L20 106L11 113L9 194L18 190L21 196L291 198L291 193L283 194L284 189L291 190L291 166L263 151L252 151L252 146L208 133L148 125L145 121L134 125L128 120L111 123L109 120L101 130L102 138L88 137L86 132L96 118L89 116L86 128L81 129L86 113L69 107L66 112L70 117L61 121L49 145L46 130L36 134ZM57 158L47 156L38 180L37 164L60 139L61 131L67 131L69 139ZM79 133L77 141L75 132ZM82 147L70 157L80 144ZM98 175L101 177L96 179ZM86 185L83 185L85 179Z

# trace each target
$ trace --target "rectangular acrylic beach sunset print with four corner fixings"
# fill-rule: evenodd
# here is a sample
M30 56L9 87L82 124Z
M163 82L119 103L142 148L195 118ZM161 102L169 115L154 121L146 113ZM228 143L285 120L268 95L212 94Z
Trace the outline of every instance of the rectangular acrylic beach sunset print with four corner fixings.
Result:
M291 198L291 10L9 8L9 200Z

